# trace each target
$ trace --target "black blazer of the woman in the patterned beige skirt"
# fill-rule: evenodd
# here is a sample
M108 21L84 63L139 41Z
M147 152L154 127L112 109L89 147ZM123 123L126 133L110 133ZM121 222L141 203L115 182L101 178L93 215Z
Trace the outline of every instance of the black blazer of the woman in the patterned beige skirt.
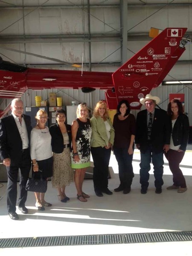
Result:
M70 148L71 148L71 125L66 125L67 134L69 136ZM57 154L61 154L64 151L63 134L58 126L58 123L51 125L49 128L51 134L51 146L52 151Z

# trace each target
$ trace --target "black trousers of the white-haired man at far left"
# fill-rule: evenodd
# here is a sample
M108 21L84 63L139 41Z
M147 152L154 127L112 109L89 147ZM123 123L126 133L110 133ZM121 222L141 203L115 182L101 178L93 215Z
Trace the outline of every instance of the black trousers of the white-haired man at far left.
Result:
M23 207L25 206L25 202L27 199L27 191L25 190L26 182L29 177L29 172L31 169L31 157L29 150L24 150L22 153L22 157L18 166L11 165L6 167L7 169L7 209L8 212L15 212L16 211L16 202L17 202L17 177L18 177L18 170L20 169L20 192L19 192L19 199L18 199L18 206Z

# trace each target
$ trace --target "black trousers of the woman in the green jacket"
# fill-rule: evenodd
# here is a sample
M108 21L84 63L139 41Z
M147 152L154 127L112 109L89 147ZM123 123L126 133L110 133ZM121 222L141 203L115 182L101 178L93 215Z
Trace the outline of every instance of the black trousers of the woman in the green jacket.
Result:
M91 147L93 157L93 184L95 191L105 191L108 188L109 160L111 148Z

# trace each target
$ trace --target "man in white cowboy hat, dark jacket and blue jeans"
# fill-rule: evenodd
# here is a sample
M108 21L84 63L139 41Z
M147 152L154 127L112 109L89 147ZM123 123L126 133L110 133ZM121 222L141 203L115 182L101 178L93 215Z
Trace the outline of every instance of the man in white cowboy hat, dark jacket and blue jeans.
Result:
M141 155L141 194L147 193L151 159L154 166L155 193L162 192L163 151L169 150L171 126L166 111L155 108L159 102L159 97L147 94L140 99L146 109L137 114L135 143Z

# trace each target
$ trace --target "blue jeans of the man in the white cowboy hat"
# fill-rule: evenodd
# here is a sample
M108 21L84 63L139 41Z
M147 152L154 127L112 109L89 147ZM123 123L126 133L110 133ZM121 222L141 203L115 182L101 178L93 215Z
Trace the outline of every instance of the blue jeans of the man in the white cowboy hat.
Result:
M151 169L150 163L152 159L153 169L154 169L154 185L156 188L161 188L163 186L163 151L160 153L154 153L151 147L148 146L147 151L141 154L141 163L140 163L140 184L143 189L148 188L149 180L149 171Z

